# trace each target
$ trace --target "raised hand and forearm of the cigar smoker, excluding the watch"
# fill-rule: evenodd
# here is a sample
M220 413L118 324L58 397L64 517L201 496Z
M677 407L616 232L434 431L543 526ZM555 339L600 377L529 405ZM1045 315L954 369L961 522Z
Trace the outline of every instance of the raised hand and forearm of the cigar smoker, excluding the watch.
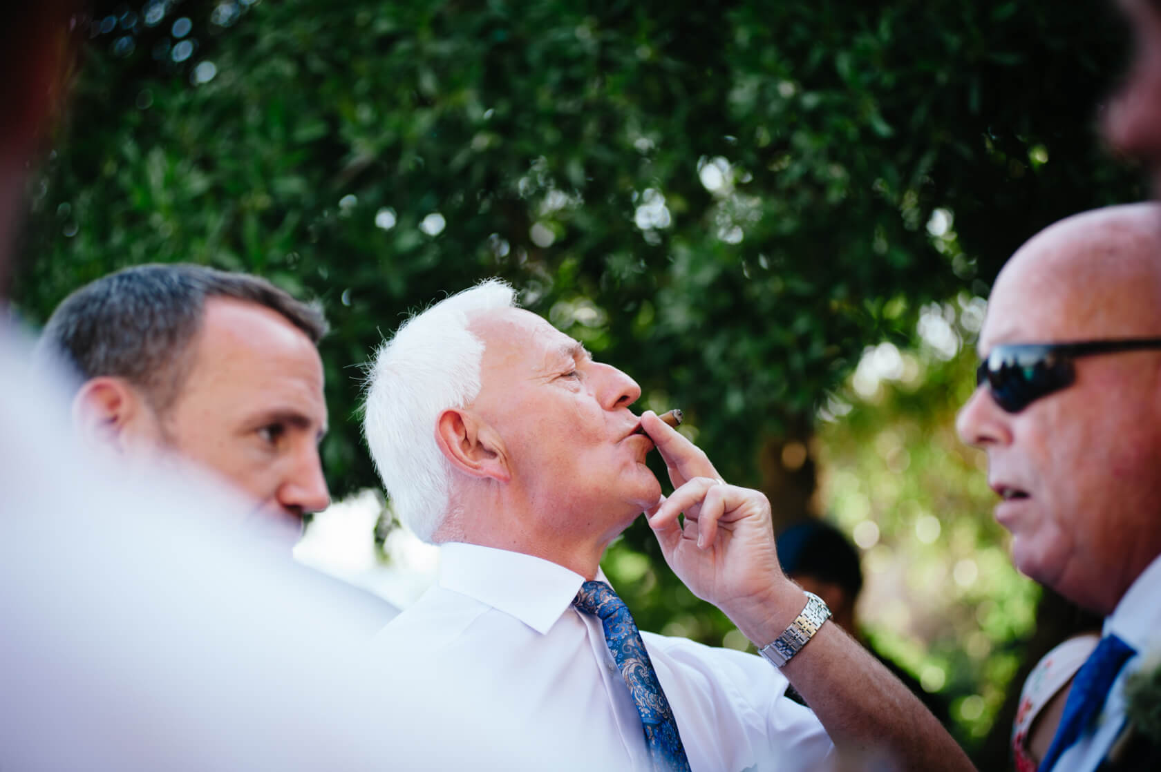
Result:
M641 425L675 488L646 513L665 562L748 638L770 643L806 605L806 593L778 564L770 503L758 491L727 485L705 453L654 413L643 413ZM974 769L915 695L834 622L819 628L783 674L844 757L886 756L900 770Z

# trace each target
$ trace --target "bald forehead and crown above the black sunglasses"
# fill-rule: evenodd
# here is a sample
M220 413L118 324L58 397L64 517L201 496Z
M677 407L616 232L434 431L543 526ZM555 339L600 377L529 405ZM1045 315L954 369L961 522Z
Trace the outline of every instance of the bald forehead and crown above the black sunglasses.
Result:
M1161 334L1161 214L1086 212L1041 231L996 277L980 352L1005 342Z

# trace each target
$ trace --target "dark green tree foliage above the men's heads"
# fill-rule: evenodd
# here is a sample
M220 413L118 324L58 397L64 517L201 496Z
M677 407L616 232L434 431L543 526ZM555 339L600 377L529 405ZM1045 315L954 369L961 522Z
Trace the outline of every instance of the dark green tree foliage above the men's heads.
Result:
M1117 38L1087 8L217 7L138 23L128 58L120 30L94 39L19 302L43 318L147 260L262 273L327 306L339 427L381 332L499 274L753 483L763 435L808 426L864 345L975 275L928 237L937 205L969 254L1002 243L995 265L1126 189L1099 185L1086 118ZM194 56L153 65L181 13ZM1014 174L1033 146L1051 160ZM374 482L354 428L324 457L337 492Z

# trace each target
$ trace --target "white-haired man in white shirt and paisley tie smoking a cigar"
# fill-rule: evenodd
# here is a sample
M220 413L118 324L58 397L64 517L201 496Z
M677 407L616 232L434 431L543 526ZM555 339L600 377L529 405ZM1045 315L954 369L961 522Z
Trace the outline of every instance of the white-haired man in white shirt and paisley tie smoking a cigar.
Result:
M654 413L635 416L640 395L496 280L395 333L370 371L367 441L396 513L441 549L437 585L388 625L383 654L431 673L449 720L457 697L490 695L473 719L505 748L553 745L548 766L969 769L786 578L765 497L724 483ZM655 446L668 499L646 466ZM637 630L599 561L642 512L682 580L770 662ZM787 679L814 713L786 698Z

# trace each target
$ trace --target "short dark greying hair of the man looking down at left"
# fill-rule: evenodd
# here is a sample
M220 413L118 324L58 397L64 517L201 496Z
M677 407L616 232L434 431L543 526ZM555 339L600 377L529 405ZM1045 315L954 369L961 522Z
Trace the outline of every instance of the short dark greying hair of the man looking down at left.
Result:
M277 311L316 345L326 334L326 318L317 305L295 300L260 276L192 264L151 264L73 291L49 317L37 354L58 359L81 381L125 378L161 413L181 392L193 363L190 344L211 297Z

